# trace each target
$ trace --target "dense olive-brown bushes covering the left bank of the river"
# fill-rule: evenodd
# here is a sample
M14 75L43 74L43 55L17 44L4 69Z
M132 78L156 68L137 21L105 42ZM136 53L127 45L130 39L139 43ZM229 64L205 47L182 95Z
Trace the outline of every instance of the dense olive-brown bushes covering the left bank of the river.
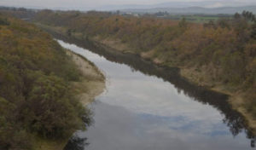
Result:
M79 76L49 34L0 15L0 149L32 149L34 136L81 129L86 111L70 89Z

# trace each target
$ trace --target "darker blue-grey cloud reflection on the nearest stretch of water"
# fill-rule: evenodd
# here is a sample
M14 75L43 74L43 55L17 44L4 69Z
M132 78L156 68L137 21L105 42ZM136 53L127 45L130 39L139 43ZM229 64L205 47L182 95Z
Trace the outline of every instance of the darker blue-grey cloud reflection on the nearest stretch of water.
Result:
M111 110L111 111L110 111ZM243 149L245 135L234 139L224 124L207 132L204 122L183 117L160 117L131 113L124 107L96 102L95 122L83 136L88 149ZM207 125L205 125L207 126Z

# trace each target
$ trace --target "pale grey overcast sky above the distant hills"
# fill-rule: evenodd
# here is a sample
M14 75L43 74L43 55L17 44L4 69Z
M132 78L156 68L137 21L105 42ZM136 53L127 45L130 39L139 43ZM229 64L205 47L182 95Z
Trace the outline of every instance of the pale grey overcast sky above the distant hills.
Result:
M174 3L174 2L177 2ZM99 9L109 5L131 5L131 4L157 4L172 3L172 7L183 7L198 5L201 7L223 7L256 5L256 0L0 0L1 6L28 7L28 8L79 8ZM168 6L170 7L170 6Z

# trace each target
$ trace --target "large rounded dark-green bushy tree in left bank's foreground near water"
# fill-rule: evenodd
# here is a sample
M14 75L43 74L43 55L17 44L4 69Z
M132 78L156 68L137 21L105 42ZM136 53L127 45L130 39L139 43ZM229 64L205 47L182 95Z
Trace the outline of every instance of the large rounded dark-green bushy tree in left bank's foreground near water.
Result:
M83 126L84 107L68 92L67 83L55 76L38 78L32 86L20 118L32 131L45 137L65 137ZM27 109L29 108L29 109Z

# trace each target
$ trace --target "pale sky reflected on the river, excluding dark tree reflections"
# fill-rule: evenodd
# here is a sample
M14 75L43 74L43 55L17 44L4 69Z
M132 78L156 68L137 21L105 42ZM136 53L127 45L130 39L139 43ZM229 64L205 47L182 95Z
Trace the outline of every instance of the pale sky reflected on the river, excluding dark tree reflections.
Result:
M134 72L88 50L60 42L84 55L108 77L107 90L93 105L95 124L82 133L93 150L245 149L213 107L193 101L161 78Z

